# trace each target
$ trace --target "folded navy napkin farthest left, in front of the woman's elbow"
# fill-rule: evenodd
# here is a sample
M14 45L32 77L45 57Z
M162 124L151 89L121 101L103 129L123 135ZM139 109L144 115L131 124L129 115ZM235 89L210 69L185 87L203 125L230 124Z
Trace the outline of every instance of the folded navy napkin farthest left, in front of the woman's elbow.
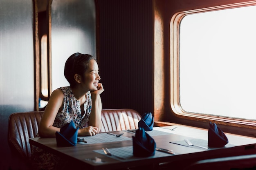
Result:
M78 129L73 120L65 124L60 132L56 132L57 146L76 146Z

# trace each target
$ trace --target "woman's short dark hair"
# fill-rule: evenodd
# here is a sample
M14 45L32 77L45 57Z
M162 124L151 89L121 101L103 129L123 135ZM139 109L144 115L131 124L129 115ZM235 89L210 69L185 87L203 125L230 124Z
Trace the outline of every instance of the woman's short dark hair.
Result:
M74 53L68 57L65 63L64 75L71 87L75 86L77 83L74 79L74 75L79 74L82 76L88 69L89 62L92 59L96 61L92 55L81 53Z

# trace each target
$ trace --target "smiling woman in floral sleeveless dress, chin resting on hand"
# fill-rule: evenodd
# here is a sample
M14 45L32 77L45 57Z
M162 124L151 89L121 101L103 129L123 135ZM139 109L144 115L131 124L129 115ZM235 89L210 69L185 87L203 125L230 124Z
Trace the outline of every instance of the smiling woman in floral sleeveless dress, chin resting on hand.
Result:
M101 97L99 68L92 55L74 53L64 68L70 86L52 92L38 127L40 137L55 137L61 127L74 121L78 136L94 136L101 130ZM40 148L33 148L34 161L40 169L61 168L58 157ZM44 154L42 154L44 152Z

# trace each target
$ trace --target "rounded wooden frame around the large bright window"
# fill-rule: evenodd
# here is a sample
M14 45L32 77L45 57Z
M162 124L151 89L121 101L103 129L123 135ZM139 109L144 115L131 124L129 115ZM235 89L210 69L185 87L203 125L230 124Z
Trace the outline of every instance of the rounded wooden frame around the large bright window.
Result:
M186 119L193 119L196 121L202 120L210 120L216 122L225 122L228 124L232 124L232 126L241 126L241 125L248 125L248 126L256 126L256 121L252 120L245 120L245 119L236 119L236 118L228 118L228 117L218 117L214 115L202 115L199 113L189 113L182 110L180 104L180 84L179 84L179 49L180 49L180 23L182 18L186 15L195 14L195 13L203 13L209 11L217 11L222 9L232 9L238 7L248 7L254 6L256 2L242 2L236 4L227 4L217 7L208 7L202 9L194 9L189 11L181 11L177 12L173 15L170 22L170 102L171 102L171 110L177 117L186 118Z

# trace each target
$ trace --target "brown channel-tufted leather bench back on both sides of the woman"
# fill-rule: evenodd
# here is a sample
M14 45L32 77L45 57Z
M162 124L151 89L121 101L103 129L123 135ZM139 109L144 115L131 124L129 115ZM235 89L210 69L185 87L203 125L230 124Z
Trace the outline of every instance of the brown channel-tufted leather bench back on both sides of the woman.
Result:
M21 158L31 157L29 138L36 136L43 111L12 113L9 116L8 142L11 151ZM141 115L132 109L102 110L101 132L138 128Z

